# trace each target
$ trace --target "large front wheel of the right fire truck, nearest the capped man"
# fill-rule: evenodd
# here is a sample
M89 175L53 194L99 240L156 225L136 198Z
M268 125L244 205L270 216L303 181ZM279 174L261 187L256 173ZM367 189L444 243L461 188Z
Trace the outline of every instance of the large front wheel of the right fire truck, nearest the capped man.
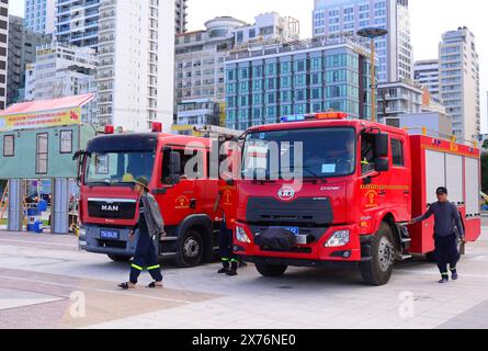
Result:
M395 245L391 227L382 223L371 245L372 259L360 263L364 282L381 286L388 283L395 263Z

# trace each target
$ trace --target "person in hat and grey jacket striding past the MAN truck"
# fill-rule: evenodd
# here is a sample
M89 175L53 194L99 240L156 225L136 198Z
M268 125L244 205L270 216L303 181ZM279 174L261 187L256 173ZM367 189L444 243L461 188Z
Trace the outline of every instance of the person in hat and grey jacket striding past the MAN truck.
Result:
M135 180L134 191L139 196L139 218L136 226L130 230L130 240L134 240L134 234L137 229L139 230L139 239L130 265L130 279L128 282L118 285L123 290L135 288L145 268L154 279L148 287L162 288L161 267L154 241L157 237L164 236L164 225L158 203L149 193L148 186L147 178L139 177Z

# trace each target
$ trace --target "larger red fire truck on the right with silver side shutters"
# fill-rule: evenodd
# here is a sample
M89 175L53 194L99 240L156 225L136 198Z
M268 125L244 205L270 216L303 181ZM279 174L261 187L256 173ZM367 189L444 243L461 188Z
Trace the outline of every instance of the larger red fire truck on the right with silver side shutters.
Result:
M480 235L479 150L428 135L341 113L283 117L245 135L242 179L237 183L235 252L264 276L282 275L288 265L359 265L367 284L386 284L394 262L413 253L431 254L433 218L407 227L436 201L445 185L462 214L468 241ZM283 159L303 155L303 180L284 180L271 169L270 145ZM296 160L295 160L296 161ZM256 177L257 174L261 177ZM276 231L276 228L279 231ZM273 230L283 249L257 245ZM281 231L280 231L281 230ZM276 238L275 238L276 239Z

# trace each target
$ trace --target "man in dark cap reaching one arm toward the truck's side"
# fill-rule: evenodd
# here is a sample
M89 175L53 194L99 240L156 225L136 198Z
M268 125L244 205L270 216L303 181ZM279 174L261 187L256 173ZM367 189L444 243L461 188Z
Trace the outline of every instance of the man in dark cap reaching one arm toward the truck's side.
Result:
M459 261L461 254L457 249L457 240L461 239L463 244L466 240L459 211L456 205L447 200L447 189L445 186L438 188L436 195L438 202L433 203L423 216L413 218L409 224L421 223L434 215L434 256L441 272L439 283L444 284L450 279L449 270L454 281L458 279L456 264ZM455 228L457 228L457 234ZM449 270L447 264L450 267Z

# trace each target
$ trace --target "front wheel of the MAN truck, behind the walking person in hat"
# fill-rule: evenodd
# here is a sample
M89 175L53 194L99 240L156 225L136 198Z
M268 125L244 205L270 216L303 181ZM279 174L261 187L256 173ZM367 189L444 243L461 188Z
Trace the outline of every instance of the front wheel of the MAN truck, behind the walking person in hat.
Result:
M204 242L200 231L189 229L177 242L174 261L180 268L196 267L202 262Z

